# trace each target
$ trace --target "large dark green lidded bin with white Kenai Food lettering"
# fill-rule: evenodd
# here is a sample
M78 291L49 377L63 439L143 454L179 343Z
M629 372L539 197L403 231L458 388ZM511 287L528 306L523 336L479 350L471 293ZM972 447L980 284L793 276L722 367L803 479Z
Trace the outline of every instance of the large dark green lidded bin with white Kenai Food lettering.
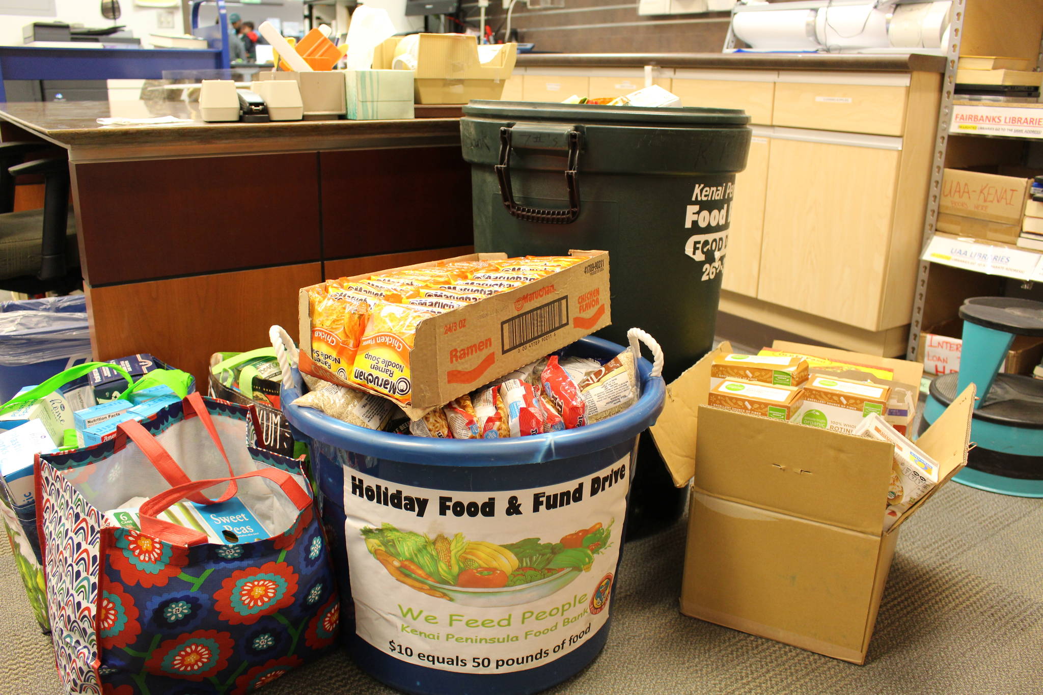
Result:
M668 382L710 350L735 174L751 131L742 110L472 101L460 136L471 165L477 251L610 253L612 326L656 337ZM642 436L628 538L676 521L675 490Z

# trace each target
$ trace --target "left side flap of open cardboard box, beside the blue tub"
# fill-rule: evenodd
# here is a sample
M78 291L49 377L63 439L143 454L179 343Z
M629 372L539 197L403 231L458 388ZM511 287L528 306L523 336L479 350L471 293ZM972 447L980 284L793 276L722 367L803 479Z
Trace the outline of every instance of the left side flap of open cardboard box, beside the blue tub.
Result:
M652 426L652 441L678 488L688 483L696 468L699 406L706 405L713 358L731 351L731 343L721 343L666 387L666 402Z

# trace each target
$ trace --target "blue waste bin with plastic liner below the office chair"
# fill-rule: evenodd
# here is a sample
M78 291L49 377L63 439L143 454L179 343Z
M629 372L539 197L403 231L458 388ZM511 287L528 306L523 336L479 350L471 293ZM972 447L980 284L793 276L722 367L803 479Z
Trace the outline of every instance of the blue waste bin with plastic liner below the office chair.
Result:
M83 295L0 302L0 403L90 358Z

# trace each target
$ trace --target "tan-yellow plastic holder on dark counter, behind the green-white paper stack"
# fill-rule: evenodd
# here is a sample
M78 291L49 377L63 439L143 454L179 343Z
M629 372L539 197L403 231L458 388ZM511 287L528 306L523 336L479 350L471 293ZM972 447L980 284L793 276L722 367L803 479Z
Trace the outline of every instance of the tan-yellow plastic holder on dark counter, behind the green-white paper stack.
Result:
M471 35L420 33L392 36L378 46L373 69L413 70L418 104L465 104L500 99L516 59L517 44L479 49Z

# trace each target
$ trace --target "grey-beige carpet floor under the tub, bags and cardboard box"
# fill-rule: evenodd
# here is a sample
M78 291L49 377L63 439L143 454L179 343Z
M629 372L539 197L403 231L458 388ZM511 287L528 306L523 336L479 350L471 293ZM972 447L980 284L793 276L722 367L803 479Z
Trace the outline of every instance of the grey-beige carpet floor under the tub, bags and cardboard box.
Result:
M1043 500L941 490L902 527L866 666L680 615L683 541L677 524L626 546L608 646L552 693L1043 692ZM0 693L60 693L50 638L0 546ZM394 691L338 652L264 692Z

